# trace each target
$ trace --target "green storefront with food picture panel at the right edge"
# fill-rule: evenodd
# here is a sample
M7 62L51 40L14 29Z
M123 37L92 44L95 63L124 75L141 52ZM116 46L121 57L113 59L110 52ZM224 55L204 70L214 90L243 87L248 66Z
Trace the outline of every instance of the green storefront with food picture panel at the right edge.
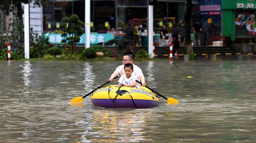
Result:
M256 38L255 0L222 0L223 36Z

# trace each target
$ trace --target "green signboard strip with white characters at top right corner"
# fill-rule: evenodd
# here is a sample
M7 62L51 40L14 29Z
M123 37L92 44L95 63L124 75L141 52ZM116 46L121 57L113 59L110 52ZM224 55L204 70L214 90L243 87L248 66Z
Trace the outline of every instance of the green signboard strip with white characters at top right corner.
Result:
M222 9L256 10L255 0L222 0Z

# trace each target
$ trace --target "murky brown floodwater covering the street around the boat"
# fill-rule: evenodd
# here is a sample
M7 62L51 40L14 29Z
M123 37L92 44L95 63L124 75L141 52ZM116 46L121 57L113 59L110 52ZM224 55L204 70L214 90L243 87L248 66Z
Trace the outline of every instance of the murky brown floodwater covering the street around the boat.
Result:
M254 143L255 63L138 61L147 85L179 103L107 109L90 96L69 101L107 82L121 61L0 61L0 141Z

